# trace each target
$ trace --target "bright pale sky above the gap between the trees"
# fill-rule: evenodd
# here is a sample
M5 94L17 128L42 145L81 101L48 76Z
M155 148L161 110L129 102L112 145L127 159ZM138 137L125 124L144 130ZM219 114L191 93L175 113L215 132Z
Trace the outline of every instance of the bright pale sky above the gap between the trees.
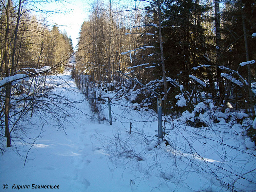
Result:
M72 38L73 46L76 47L81 25L89 18L90 1L71 0L71 1L52 1L51 3L42 3L37 5L41 10L54 11L61 13L47 13L46 20L51 27L57 23L61 32L64 30ZM45 17L45 15L43 15Z

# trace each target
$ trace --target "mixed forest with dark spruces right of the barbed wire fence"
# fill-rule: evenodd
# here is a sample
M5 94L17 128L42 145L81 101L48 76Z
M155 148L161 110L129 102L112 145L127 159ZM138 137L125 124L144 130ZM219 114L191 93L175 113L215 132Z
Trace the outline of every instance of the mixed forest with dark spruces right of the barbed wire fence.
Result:
M79 88L94 82L100 97L125 86L137 90L132 102L156 110L156 95L128 86L121 71L160 93L164 114L174 118L204 101L254 120L254 1L141 0L120 7L111 0L92 4L76 52Z

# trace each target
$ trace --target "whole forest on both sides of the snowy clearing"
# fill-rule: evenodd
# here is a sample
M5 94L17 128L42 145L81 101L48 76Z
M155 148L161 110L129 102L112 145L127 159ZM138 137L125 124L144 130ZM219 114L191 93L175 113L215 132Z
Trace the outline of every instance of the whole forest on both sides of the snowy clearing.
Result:
M32 116L44 95L39 92L50 90L44 76L62 72L71 56L83 92L85 82L100 92L126 86L126 92L137 90L132 102L156 110L156 95L133 81L127 85L123 72L160 93L164 114L174 118L211 100L222 113L242 110L254 120L254 1L135 0L124 8L109 0L91 7L74 52L71 37L58 24L49 29L28 2L1 2L1 125L8 146L20 117L28 111ZM10 110L17 110L17 122L10 123ZM253 127L248 130L255 141Z

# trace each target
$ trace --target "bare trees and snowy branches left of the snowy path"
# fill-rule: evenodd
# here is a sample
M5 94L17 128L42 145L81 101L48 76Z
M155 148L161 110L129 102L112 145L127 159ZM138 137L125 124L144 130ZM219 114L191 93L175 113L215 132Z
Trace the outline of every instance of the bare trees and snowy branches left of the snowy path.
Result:
M46 20L35 16L35 7L28 5L21 0L0 4L0 122L1 140L7 139L7 147L12 139L20 139L15 132L24 131L19 125L24 114L32 116L35 108L43 106L45 112L49 110L49 102L43 100L54 96L46 74L62 72L73 54L67 33L61 33L57 24L50 30Z

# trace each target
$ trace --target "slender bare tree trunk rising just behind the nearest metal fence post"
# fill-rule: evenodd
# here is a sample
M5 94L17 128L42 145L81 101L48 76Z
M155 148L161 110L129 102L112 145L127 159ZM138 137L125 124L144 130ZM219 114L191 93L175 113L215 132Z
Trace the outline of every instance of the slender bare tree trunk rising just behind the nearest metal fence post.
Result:
M159 43L160 43L162 71L163 71L163 80L164 80L164 101L166 103L167 102L167 82L166 82L165 66L164 66L164 49L163 49L162 29L161 29L160 0L157 0L157 13L158 13Z

